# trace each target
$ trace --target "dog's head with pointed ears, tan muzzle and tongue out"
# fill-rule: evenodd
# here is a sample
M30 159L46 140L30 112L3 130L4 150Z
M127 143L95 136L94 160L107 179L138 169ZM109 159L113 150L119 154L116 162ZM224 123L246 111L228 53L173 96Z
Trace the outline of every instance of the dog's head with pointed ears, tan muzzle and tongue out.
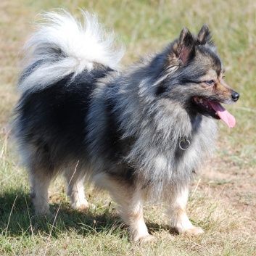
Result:
M232 104L239 94L223 79L224 68L208 26L197 35L183 28L164 55L165 83L158 85L157 94L178 99L186 110L222 119L228 127L234 127L234 117L221 103Z

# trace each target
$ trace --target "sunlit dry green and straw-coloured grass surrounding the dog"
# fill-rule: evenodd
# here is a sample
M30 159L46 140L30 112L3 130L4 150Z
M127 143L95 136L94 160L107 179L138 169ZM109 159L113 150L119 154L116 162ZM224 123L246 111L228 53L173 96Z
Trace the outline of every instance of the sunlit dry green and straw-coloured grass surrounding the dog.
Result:
M51 186L52 218L33 215L28 176L9 141L9 114L17 101L20 48L36 12L64 7L92 9L126 46L123 65L157 51L183 26L196 33L207 22L226 66L226 81L241 99L228 110L236 128L220 123L215 157L191 186L188 212L205 229L178 236L164 218L165 205L146 205L156 241L132 244L117 206L106 193L87 189L96 210L70 209L62 178ZM0 2L0 255L255 255L256 240L256 24L255 1L31 1Z

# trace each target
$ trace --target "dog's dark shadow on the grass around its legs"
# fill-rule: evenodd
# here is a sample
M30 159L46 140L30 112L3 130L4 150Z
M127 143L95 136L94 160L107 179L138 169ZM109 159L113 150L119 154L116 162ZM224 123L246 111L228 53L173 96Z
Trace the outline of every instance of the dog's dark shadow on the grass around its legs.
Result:
M89 210L73 210L67 202L50 206L52 215L35 215L30 194L17 189L0 194L0 232L10 236L27 234L46 234L57 238L60 234L75 231L76 234L88 236L92 234L117 234L128 238L128 226L122 223L115 207L91 208ZM176 231L170 226L160 226L146 221L149 233L162 229L170 234Z

